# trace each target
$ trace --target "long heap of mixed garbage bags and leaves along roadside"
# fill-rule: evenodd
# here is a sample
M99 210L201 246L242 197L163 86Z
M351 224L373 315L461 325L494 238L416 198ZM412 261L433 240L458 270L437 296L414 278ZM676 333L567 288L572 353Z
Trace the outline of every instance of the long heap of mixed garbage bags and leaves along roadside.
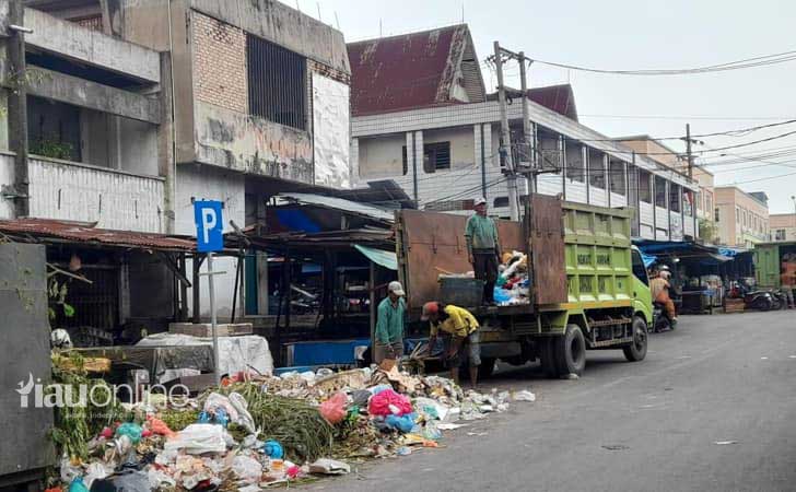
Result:
M84 420L86 442L58 446L58 485L49 491L254 492L435 448L443 431L465 425L457 422L534 399L527 390L465 393L450 379L396 367L238 375L197 398L144 395L109 414L71 415ZM85 435L91 429L98 431Z

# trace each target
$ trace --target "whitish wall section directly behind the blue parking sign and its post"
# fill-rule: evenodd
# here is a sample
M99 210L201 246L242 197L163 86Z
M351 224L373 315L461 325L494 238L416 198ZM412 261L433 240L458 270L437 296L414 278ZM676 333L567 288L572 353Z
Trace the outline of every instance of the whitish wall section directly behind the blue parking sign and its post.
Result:
M239 226L246 221L245 178L241 173L233 173L219 169L213 166L199 166L184 164L177 167L177 199L176 233L196 235L194 223L194 204L196 200L220 200L224 203L224 232L232 231L230 221L235 221ZM219 257L213 262L215 270L226 271L225 274L215 277L215 300L219 308L219 316L227 318L232 313L233 288L235 283L235 268L237 260L233 258ZM192 266L188 261L188 271L192 272ZM207 262L202 266L207 271ZM189 289L188 298L192 300ZM200 297L200 312L202 316L210 313L210 297L207 277L202 277ZM241 303L238 303L238 306ZM192 306L191 306L192 309Z

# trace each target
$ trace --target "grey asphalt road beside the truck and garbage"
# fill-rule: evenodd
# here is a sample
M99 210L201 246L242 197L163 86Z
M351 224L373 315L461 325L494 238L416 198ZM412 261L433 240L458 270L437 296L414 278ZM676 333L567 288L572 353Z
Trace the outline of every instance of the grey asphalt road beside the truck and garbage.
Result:
M682 317L643 362L587 361L576 380L501 372L484 386L537 401L309 489L796 490L796 312Z

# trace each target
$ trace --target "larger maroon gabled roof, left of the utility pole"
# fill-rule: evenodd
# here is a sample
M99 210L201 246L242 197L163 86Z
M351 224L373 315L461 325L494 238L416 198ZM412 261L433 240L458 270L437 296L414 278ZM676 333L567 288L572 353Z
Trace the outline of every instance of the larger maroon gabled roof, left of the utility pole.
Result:
M352 114L461 103L450 89L470 44L466 24L348 44Z

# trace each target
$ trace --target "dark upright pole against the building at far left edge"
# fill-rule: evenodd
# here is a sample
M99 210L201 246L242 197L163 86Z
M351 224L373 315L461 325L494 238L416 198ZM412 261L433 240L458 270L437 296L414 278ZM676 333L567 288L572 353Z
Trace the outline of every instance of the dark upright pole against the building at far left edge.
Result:
M9 3L8 55L11 66L9 96L9 147L14 151L14 212L30 215L30 178L27 173L27 77L25 66L25 8L22 0ZM30 31L30 30L27 30Z

